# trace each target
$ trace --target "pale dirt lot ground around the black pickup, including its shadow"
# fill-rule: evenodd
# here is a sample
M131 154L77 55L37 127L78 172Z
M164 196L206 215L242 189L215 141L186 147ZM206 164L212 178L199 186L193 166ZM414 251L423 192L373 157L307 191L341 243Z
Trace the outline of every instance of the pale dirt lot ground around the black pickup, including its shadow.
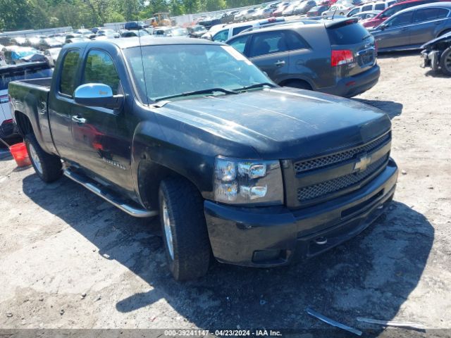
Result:
M393 119L405 170L388 213L347 244L273 270L216 264L179 284L158 221L136 220L66 178L46 185L0 160L0 327L354 327L357 316L451 327L451 79L418 54L379 58L356 99ZM1 157L1 155L0 155Z

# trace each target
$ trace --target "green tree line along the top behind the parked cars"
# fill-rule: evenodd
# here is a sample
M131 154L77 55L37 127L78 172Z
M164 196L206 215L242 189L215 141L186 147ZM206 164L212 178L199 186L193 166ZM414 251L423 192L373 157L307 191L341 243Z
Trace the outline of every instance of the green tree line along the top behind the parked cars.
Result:
M0 0L0 31L97 27L170 15L218 11L263 0Z

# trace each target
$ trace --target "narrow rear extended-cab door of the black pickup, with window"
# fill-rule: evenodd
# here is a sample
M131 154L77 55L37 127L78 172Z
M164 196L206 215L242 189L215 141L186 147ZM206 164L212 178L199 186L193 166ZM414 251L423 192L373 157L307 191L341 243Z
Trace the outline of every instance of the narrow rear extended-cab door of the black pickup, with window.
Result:
M56 86L50 91L49 120L54 144L61 158L71 159L76 149L72 142L70 111L80 63L80 49L68 49L55 76Z

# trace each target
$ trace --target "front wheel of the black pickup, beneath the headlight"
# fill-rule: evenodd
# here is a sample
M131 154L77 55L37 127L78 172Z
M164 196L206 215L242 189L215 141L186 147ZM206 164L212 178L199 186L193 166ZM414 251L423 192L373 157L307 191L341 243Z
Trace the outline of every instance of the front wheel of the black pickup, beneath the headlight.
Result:
M191 182L170 177L160 184L159 202L166 259L174 279L204 276L209 269L211 246L201 194Z

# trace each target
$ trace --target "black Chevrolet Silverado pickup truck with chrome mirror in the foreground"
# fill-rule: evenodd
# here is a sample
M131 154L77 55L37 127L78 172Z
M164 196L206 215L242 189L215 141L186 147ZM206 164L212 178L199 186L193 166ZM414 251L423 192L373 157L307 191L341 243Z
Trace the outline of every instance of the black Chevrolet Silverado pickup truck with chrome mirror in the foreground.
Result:
M66 175L136 217L160 215L177 280L222 263L269 267L362 232L393 199L390 119L278 87L202 39L68 44L53 77L11 82L44 182Z

